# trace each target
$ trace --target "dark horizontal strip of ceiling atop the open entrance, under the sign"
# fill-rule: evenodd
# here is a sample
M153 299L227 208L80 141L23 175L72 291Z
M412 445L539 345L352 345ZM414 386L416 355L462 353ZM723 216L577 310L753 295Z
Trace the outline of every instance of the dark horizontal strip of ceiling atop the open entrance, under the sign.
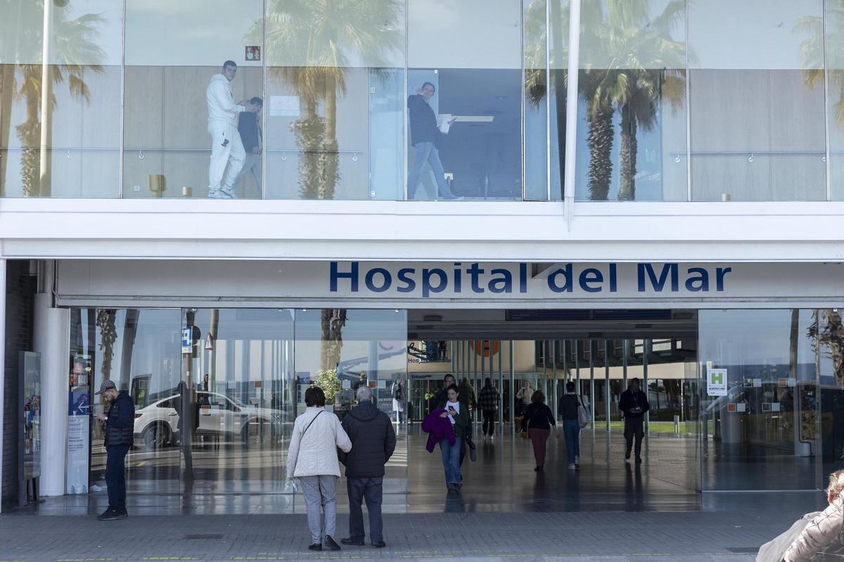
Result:
M621 340L696 337L695 310L408 310L410 340Z

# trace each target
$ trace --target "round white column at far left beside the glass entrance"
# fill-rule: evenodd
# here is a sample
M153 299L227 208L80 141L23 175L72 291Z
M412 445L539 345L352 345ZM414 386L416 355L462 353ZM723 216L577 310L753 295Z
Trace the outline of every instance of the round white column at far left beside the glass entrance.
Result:
M47 268L50 271L50 268ZM33 350L41 353L41 495L64 495L68 454L70 309L51 308L52 275L35 295Z

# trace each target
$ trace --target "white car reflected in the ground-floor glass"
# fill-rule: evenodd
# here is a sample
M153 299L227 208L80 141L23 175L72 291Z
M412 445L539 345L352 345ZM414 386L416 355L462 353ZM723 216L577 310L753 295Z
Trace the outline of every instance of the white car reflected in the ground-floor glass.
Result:
M149 451L176 444L179 435L179 394L160 399L135 411L135 443ZM277 431L287 417L280 409L258 408L243 404L225 394L197 392L196 435L240 436L248 443L257 435L259 426L267 431Z

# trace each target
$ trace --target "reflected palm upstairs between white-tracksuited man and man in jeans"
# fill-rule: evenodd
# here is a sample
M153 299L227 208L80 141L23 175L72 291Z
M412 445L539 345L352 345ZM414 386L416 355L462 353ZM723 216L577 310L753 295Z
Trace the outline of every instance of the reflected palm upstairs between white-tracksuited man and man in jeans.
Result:
M303 117L292 125L303 152L300 195L333 199L339 179L338 96L346 93L346 74L356 59L381 69L389 66L387 54L403 48L403 3L272 0L265 19L254 24L249 35L262 30L270 62L284 57L301 64L268 70L272 78L293 89L304 107ZM320 102L325 104L324 117L317 115Z

